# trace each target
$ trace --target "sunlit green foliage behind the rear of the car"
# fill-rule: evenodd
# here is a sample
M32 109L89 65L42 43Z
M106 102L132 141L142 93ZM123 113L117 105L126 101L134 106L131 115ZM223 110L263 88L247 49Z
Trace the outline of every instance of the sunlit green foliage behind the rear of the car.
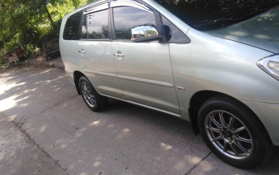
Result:
M38 52L41 39L58 34L65 14L94 0L0 0L0 64L5 52L20 43L27 56Z

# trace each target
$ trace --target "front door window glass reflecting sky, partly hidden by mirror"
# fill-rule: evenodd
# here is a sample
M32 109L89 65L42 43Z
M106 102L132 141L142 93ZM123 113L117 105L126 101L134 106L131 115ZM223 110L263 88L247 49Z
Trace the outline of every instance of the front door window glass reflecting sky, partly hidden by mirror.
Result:
M117 40L131 40L131 29L134 26L152 24L156 26L153 13L136 7L113 8L114 30Z

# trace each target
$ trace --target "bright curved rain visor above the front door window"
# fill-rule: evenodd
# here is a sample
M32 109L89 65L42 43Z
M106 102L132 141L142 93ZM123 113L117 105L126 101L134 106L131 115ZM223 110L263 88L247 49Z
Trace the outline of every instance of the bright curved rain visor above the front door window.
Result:
M135 7L139 8L141 10L147 11L149 13L154 14L154 11L147 6L136 2L134 0L117 0L117 1L111 1L111 7L119 7L119 6L130 6L130 7Z

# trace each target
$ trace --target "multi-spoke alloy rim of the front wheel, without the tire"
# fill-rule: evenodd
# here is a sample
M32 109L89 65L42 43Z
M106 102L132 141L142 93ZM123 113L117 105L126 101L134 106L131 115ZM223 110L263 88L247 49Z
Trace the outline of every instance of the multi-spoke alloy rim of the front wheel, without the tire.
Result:
M247 159L253 151L251 133L233 114L211 111L205 118L205 131L214 147L233 159Z

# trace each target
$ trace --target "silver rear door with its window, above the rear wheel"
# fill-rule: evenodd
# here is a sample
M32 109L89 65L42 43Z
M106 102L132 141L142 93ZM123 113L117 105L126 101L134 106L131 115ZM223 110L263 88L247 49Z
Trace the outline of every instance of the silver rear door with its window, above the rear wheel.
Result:
M94 88L103 95L122 99L112 56L108 8L109 2L104 2L84 10L78 51L84 72Z

